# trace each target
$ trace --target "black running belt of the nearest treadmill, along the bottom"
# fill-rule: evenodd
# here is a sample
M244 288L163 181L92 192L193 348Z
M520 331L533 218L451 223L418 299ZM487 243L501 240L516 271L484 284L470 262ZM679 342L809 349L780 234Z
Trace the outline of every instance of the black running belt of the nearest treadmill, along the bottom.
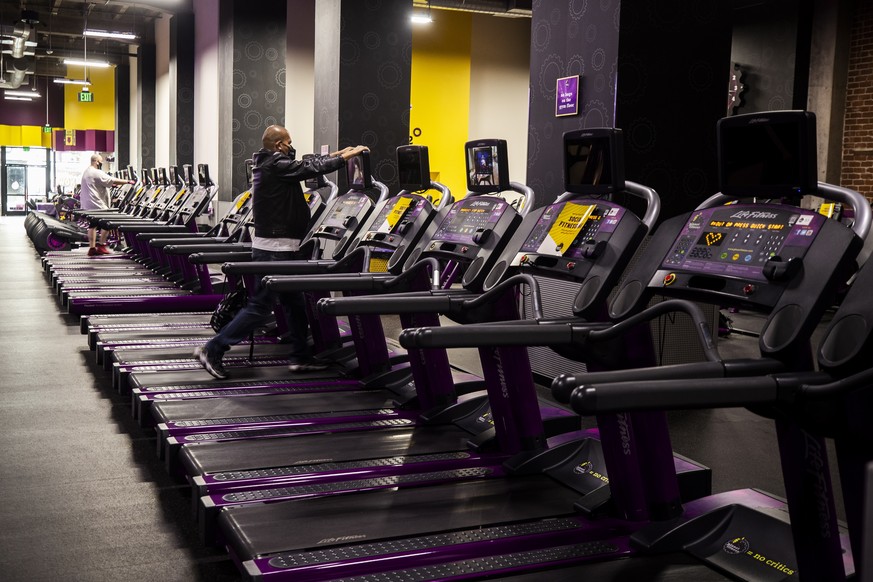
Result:
M495 522L569 515L579 494L542 475L448 483L225 509L240 559L339 543L403 538ZM297 524L305 523L300 528Z

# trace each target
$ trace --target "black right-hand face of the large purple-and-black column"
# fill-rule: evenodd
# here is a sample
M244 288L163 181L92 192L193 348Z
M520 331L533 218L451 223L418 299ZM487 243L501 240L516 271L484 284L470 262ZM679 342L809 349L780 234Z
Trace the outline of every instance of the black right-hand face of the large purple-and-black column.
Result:
M627 178L653 187L661 219L718 190L715 126L727 112L729 3L624 0L616 125Z

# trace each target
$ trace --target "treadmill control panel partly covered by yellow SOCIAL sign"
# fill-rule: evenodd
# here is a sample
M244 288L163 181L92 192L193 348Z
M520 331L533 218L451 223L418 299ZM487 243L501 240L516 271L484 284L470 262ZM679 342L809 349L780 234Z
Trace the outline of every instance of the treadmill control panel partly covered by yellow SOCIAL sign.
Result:
M586 243L606 240L626 210L601 200L552 204L543 211L521 253L582 259Z

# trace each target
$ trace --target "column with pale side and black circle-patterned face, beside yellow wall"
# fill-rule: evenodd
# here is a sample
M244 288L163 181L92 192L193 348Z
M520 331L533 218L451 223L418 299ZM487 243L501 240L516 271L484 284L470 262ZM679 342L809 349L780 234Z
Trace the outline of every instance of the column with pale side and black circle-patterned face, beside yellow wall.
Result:
M408 0L320 0L315 12L316 148L368 146L373 175L392 189L395 150L409 139L410 8Z

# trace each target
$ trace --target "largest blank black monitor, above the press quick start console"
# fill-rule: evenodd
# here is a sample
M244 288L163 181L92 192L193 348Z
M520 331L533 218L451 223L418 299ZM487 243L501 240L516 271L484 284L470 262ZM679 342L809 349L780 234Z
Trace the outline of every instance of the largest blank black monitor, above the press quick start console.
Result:
M817 186L815 115L770 111L718 122L718 180L737 198L802 196Z

